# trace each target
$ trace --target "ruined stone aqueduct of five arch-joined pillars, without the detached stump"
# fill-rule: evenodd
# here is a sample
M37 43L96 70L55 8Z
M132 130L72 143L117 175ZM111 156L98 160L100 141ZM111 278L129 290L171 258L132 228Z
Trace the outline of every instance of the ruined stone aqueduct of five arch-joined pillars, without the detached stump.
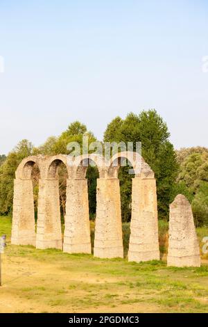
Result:
M121 152L112 157L110 165L96 154L76 157L73 166L67 155L28 157L16 171L12 220L12 244L36 248L59 248L66 253L91 253L87 167L80 163L94 161L99 178L96 190L96 228L94 256L123 257L121 198L117 160L132 158L135 178L132 179L132 219L130 223L129 261L159 260L157 226L157 191L155 175L150 166L135 152ZM138 170L137 164L141 163ZM58 166L67 168L67 203L64 241L62 241ZM37 232L31 173L40 169L37 209Z

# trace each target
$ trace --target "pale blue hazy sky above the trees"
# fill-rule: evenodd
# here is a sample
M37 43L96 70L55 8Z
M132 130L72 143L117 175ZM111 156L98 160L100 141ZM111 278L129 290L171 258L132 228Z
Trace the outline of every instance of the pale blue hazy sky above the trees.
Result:
M208 145L207 0L0 0L0 56L0 154L151 108L176 148Z

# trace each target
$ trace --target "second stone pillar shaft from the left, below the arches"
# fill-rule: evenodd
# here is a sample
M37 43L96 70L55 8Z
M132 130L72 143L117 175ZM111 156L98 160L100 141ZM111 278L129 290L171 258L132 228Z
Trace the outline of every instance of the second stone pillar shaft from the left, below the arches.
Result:
M36 247L62 249L58 179L39 181Z

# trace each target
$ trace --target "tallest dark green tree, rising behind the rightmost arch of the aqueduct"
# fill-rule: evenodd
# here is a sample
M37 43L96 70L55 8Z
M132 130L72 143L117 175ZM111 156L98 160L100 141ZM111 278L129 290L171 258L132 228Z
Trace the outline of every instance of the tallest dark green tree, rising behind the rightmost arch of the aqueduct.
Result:
M177 177L177 161L166 123L155 110L129 113L125 120L117 117L104 134L108 142L141 142L142 157L155 172L159 217L167 218L172 186ZM135 150L135 148L134 148ZM121 207L123 221L130 220L131 180L127 170L121 169Z

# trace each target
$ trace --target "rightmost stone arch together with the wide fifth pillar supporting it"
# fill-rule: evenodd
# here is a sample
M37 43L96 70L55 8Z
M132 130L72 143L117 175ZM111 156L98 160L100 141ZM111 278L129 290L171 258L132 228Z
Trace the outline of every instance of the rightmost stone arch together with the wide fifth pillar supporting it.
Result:
M135 178L132 178L132 218L128 260L136 262L159 260L155 174L139 153L120 152L112 157L107 170L107 175L112 181L118 180L123 158L130 161L135 173ZM119 215L118 219L121 220L121 214Z

